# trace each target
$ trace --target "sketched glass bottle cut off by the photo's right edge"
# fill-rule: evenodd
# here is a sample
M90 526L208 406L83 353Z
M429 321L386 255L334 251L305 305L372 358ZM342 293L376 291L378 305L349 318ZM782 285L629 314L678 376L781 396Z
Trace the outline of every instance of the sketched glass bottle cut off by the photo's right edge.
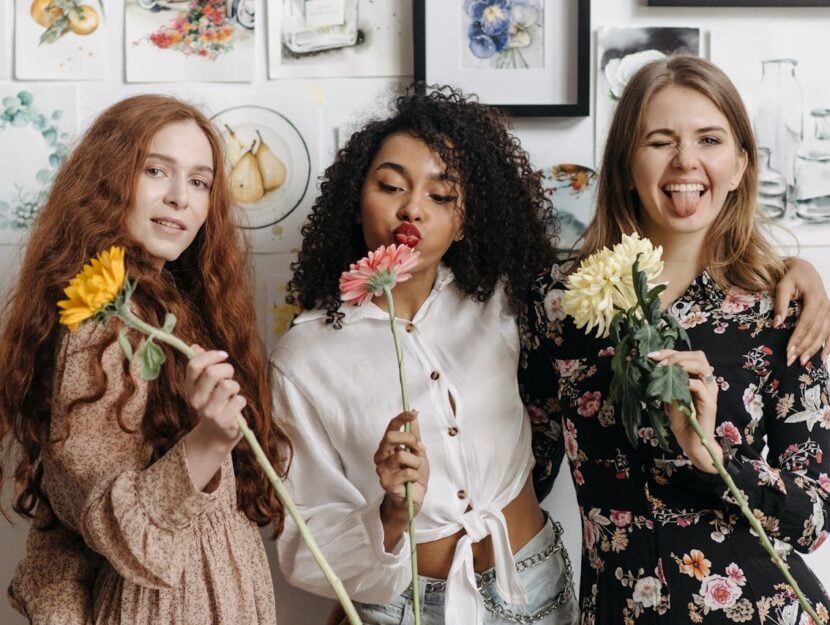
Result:
M813 136L795 160L795 212L812 223L830 222L830 109L810 111Z

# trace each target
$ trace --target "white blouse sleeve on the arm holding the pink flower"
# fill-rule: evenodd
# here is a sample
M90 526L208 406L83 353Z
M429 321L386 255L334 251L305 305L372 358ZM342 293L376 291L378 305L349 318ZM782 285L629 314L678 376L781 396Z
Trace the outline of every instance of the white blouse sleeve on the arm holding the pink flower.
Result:
M303 520L352 599L377 604L392 601L412 580L408 536L404 534L393 553L385 551L380 520L383 497L367 501L349 481L314 406L280 372L274 396L277 415L284 419L294 445L287 487ZM335 597L290 517L286 517L277 547L286 581L317 595Z

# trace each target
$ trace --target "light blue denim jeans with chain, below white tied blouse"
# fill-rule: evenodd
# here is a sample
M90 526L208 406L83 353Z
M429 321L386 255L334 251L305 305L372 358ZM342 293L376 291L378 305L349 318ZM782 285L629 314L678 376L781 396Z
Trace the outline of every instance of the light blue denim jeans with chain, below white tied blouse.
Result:
M511 605L496 590L496 574L488 569L476 575L487 615L485 625L572 625L578 622L573 572L565 546L562 526L548 520L539 533L514 554L516 570L527 592L526 605ZM421 625L444 624L444 580L418 576L421 593ZM412 589L386 605L355 603L365 625L411 625ZM465 625L448 623L447 625Z

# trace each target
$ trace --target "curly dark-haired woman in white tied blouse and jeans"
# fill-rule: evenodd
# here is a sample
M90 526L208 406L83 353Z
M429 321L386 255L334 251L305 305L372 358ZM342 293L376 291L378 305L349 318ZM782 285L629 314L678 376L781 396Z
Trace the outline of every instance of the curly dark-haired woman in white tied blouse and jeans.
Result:
M407 480L423 623L576 618L516 383L516 312L552 260L552 208L504 121L450 89L404 94L337 155L303 229L289 290L307 312L274 355L277 411L294 441L289 482L364 623L411 615ZM386 304L344 307L338 278L392 243L421 261L393 292L417 416L390 421ZM290 583L331 596L290 521L279 552Z

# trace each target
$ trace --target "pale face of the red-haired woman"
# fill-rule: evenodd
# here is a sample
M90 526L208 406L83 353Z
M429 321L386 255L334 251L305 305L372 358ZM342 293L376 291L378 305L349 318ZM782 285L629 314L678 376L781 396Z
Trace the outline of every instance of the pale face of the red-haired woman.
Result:
M194 121L164 126L150 141L127 231L162 267L184 252L205 223L213 151Z

